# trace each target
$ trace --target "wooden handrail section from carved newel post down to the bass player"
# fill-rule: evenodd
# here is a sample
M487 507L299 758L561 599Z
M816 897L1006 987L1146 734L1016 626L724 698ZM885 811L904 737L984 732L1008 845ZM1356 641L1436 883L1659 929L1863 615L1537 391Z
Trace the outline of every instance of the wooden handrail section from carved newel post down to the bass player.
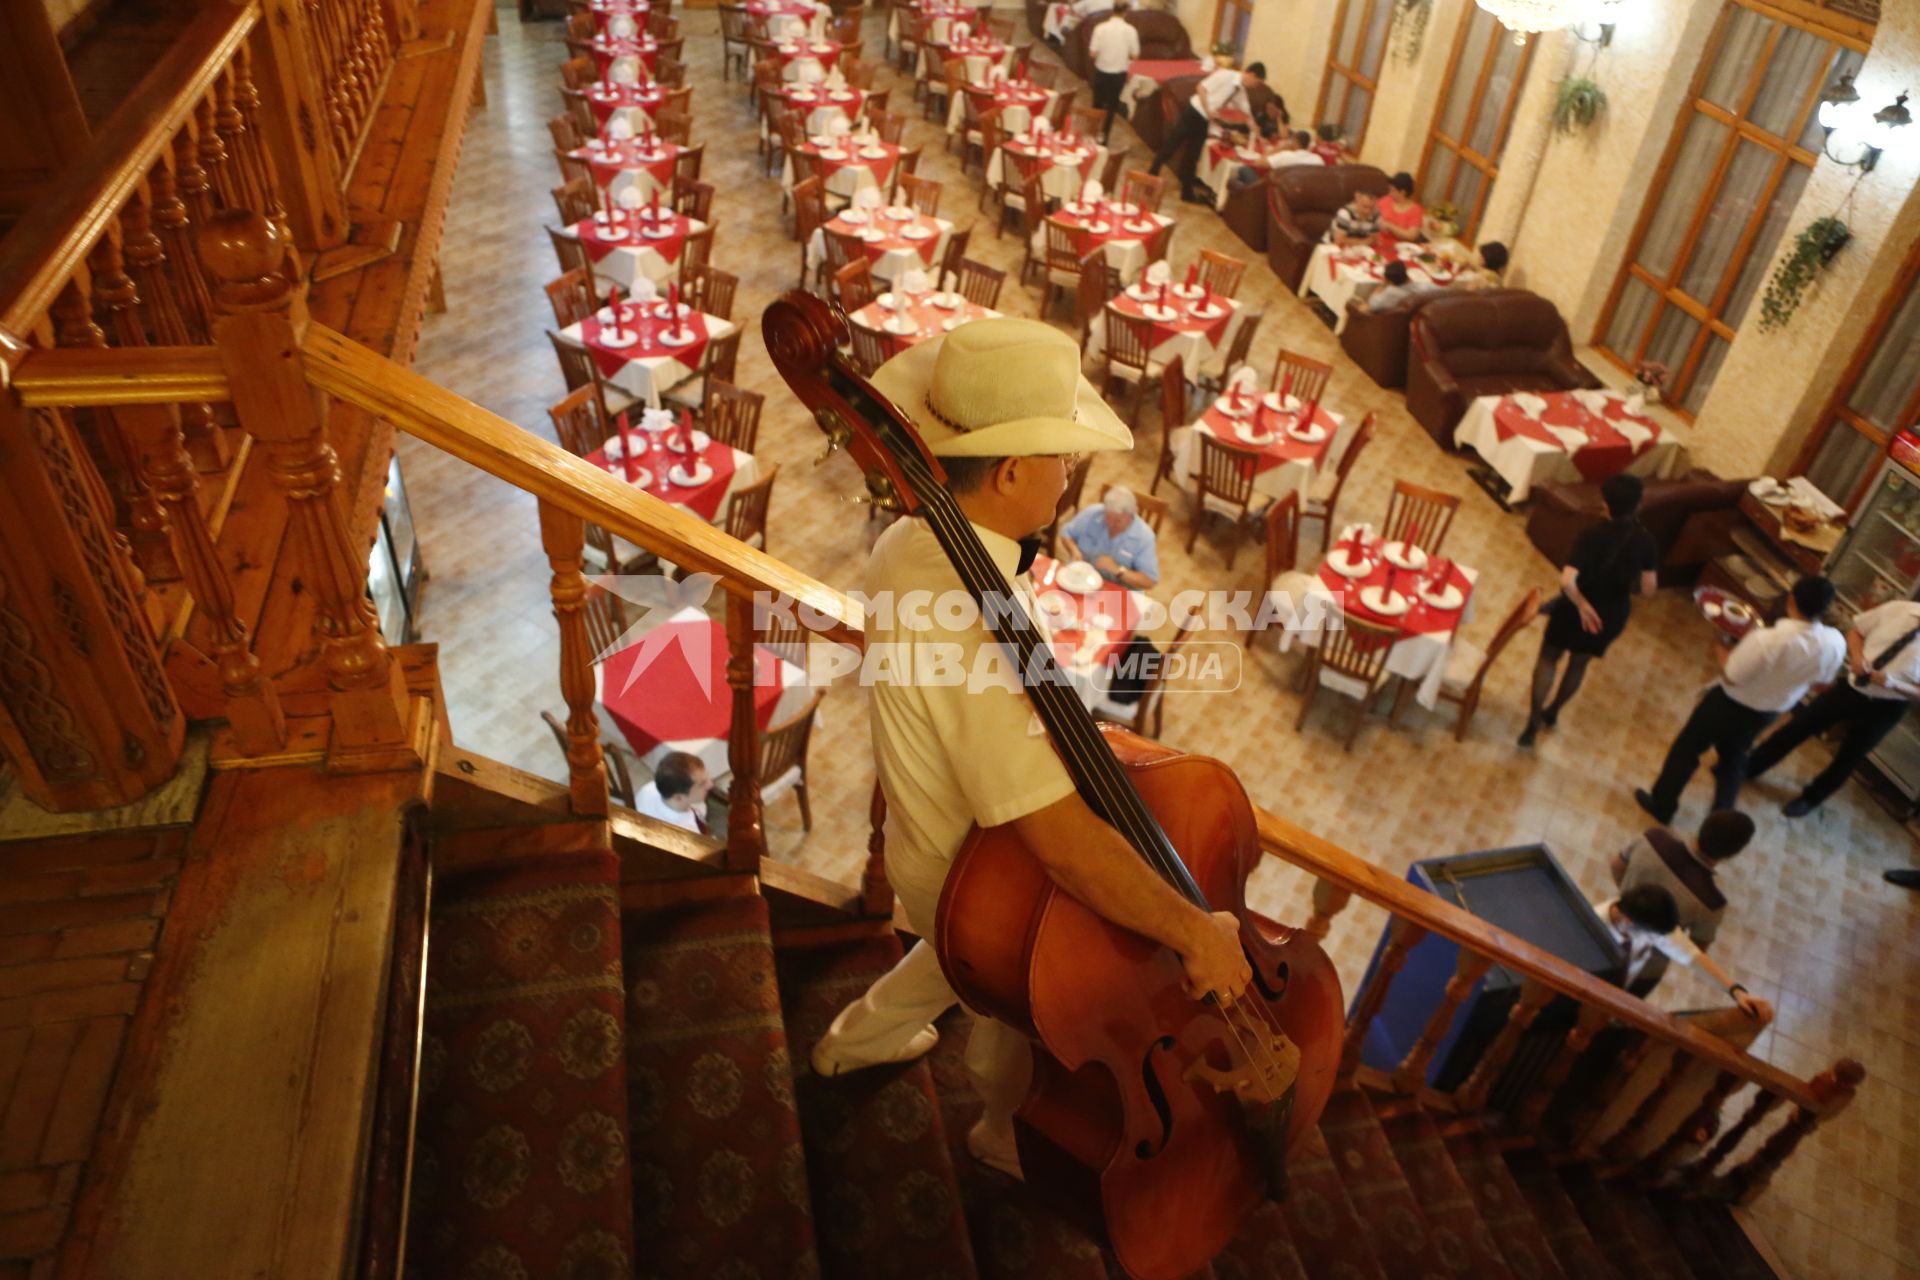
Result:
M783 560L728 537L672 503L639 493L549 439L455 395L324 324L305 338L313 384L472 462L516 489L599 524L674 564L714 574L732 595L785 595L826 622L814 635L866 647L860 604Z

